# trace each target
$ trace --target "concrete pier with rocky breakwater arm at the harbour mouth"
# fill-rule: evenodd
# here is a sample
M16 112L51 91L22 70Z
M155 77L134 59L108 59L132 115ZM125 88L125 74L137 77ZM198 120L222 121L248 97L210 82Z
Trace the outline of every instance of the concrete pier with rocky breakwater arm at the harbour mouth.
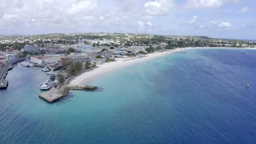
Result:
M49 91L39 94L39 97L46 100L47 102L54 102L67 96L69 90L96 90L96 86L81 86L81 85L68 85L65 88L54 88L52 87Z

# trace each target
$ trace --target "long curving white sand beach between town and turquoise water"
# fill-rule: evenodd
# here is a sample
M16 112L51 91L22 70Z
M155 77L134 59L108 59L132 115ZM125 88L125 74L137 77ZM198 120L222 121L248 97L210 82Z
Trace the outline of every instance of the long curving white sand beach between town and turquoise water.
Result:
M140 62L146 62L147 60L152 60L154 58L160 58L162 56L170 55L172 52L180 52L182 50L195 50L195 49L208 49L211 47L188 47L188 48L178 48L175 50L166 50L165 52L154 52L146 55L142 55L144 57L138 58L132 57L132 58L116 58L116 61L114 62L108 62L101 65L97 65L98 68L91 70L89 72L84 72L80 74L79 76L76 76L74 79L70 81L70 85L80 85L80 84L86 84L94 78L102 76L103 74L106 74L110 71L118 70L120 68L124 68L127 66L130 66L132 64L138 64ZM214 47L218 49L254 49L256 48L226 48L226 47Z

